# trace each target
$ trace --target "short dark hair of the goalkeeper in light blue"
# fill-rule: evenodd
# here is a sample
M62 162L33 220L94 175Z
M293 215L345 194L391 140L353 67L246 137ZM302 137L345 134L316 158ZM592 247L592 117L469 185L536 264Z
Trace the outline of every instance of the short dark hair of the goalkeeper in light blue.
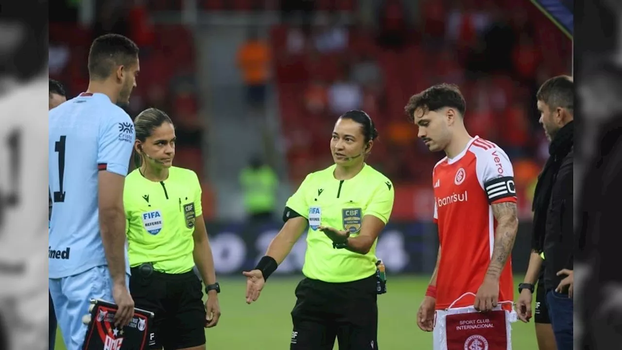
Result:
M138 58L138 46L119 34L104 34L91 44L88 73L91 79L106 79L119 65L131 65Z

